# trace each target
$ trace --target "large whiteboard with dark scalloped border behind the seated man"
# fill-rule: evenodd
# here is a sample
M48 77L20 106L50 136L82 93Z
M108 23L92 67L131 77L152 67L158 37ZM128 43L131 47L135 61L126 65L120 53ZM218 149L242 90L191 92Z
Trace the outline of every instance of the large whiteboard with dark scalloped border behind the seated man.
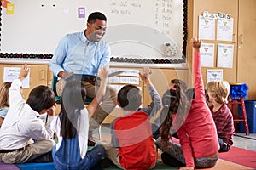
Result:
M185 63L187 0L3 0L0 57L50 59L95 11L107 16L112 61Z

